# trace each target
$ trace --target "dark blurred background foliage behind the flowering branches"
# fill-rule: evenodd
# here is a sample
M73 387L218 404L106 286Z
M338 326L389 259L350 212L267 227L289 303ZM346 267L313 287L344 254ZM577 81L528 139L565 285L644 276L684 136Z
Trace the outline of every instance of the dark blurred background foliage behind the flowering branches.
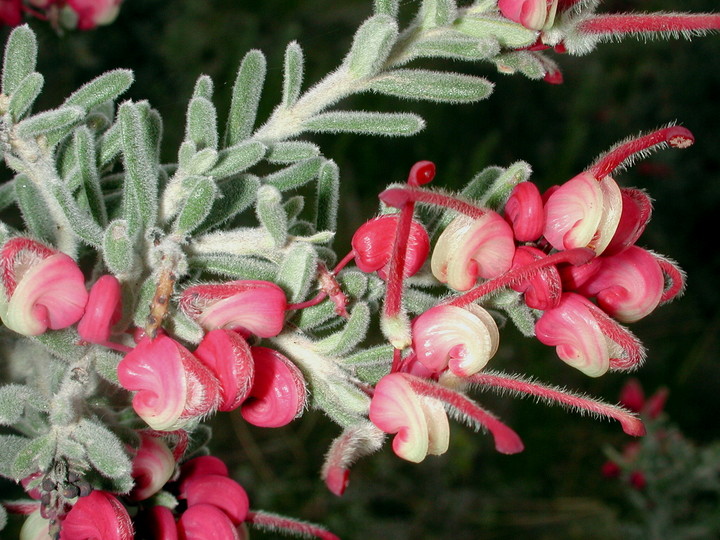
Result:
M223 114L239 60L251 48L262 49L268 56L261 103L261 117L266 116L279 99L286 43L300 42L307 57L306 80L317 81L339 64L371 4L128 0L113 25L64 36L35 21L39 71L46 80L40 106L57 105L102 71L131 68L136 83L128 97L147 99L161 112L164 158L174 161L184 108L200 73L214 79ZM673 9L713 11L717 4L606 0L602 11ZM495 94L477 105L354 98L348 106L420 113L428 127L406 140L318 137L341 171L344 220L338 245L347 244L352 230L375 212L382 186L403 180L415 161L434 161L437 185L457 188L487 165L523 159L532 164L534 180L547 187L580 172L626 136L677 120L695 133L694 147L658 153L617 176L622 185L648 189L656 200L641 243L678 260L689 274L685 297L633 325L633 331L649 349L639 378L647 387L670 388L668 413L690 438L717 439L720 252L704 242L717 231L720 210L719 53L718 36L692 42L628 39L602 45L587 57L558 56L565 77L560 86L502 75L489 65L457 63L457 71L496 82ZM613 374L589 380L549 348L512 329L504 332L493 362L496 368L610 401L624 381ZM529 400L487 395L481 401L521 434L524 453L499 455L488 437L455 425L451 448L441 458L410 465L388 449L366 458L353 469L342 499L319 480L323 453L336 433L317 414L275 430L253 429L239 417L219 415L214 452L245 483L254 507L325 523L346 540L620 537L617 486L599 472L603 445L627 440L617 425Z

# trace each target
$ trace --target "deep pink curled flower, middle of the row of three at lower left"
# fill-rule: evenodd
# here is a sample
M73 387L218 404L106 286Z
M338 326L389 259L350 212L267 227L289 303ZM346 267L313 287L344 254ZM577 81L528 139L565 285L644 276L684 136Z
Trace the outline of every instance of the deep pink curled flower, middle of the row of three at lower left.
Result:
M195 349L195 356L220 383L220 411L232 411L250 395L255 377L250 346L230 330L211 330Z

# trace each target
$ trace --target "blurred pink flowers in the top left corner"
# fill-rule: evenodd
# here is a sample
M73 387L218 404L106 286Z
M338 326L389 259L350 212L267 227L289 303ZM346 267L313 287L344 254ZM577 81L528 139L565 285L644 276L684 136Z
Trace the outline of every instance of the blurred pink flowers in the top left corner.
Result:
M122 0L0 0L0 24L18 26L26 15L66 30L91 30L110 24Z

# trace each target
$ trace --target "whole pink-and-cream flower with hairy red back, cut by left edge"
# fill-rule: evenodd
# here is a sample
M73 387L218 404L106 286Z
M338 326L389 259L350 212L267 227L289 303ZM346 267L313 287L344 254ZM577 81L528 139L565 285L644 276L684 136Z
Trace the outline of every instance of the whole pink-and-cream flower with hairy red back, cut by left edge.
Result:
M0 317L18 334L67 328L85 311L88 293L77 263L35 240L8 240L0 250L0 273Z

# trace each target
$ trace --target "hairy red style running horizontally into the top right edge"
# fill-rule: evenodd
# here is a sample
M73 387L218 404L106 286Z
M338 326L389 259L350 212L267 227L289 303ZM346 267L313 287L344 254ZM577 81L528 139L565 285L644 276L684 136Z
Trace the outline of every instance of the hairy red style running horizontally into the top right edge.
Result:
M598 15L581 22L583 34L647 34L652 32L694 33L720 30L720 15L712 13Z

